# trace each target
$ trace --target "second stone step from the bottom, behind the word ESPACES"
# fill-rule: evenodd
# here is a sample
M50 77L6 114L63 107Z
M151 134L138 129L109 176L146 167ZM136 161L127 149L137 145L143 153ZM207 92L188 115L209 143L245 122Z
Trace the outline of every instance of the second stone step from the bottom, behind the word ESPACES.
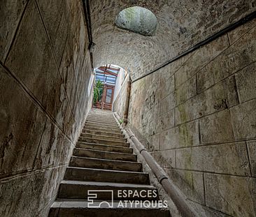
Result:
M88 190L99 190L97 200L111 200L112 195L113 200L159 200L157 188L149 185L70 180L62 181L58 198L87 200ZM113 190L113 194L109 190Z

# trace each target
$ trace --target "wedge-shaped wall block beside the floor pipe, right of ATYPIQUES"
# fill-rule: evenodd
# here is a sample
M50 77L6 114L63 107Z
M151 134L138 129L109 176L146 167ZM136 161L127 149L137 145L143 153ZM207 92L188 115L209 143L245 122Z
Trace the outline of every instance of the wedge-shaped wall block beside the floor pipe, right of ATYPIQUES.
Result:
M204 204L203 173L176 169L165 169L165 171L188 199Z

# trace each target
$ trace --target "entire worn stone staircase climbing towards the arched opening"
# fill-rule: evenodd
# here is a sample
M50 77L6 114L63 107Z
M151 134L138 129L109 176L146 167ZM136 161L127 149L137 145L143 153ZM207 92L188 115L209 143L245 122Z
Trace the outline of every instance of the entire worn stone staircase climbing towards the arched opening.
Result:
M97 193L93 204L88 190ZM158 200L157 189L150 186L148 174L142 171L113 113L92 110L49 217L169 216L169 210Z

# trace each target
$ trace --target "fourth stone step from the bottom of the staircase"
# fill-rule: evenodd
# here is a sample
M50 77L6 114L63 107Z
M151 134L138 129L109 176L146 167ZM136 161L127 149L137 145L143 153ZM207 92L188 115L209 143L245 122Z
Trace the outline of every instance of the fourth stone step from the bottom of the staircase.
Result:
M69 163L70 167L86 167L104 170L122 170L141 172L142 165L138 162L124 161L124 160L108 160L101 158L86 158L72 156Z

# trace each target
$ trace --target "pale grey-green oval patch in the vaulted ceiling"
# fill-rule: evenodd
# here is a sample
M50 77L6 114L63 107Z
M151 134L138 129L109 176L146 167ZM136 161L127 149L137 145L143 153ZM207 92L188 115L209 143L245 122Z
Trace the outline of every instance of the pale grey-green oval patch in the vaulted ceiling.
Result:
M121 29L127 29L143 36L154 36L157 17L148 9L134 6L122 10L115 19Z

